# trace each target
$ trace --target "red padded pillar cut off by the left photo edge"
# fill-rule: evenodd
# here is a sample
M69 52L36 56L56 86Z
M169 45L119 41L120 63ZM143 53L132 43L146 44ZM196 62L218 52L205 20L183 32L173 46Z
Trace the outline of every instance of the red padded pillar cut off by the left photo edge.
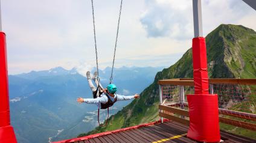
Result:
M13 127L10 126L7 56L4 32L0 32L0 142L17 142Z

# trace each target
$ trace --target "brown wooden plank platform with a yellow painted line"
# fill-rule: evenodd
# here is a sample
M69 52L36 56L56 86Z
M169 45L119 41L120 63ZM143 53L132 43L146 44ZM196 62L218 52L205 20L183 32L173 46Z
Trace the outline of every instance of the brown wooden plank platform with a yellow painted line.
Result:
M196 142L187 138L188 126L167 121L165 123L153 124L152 126L139 127L136 129L124 130L121 132L110 133L107 135L95 136L89 139L79 139L71 142L75 143L106 143L106 142ZM256 142L254 139L249 139L243 136L237 136L227 132L221 132L223 142ZM63 141L63 142L69 142ZM59 141L61 142L61 141Z

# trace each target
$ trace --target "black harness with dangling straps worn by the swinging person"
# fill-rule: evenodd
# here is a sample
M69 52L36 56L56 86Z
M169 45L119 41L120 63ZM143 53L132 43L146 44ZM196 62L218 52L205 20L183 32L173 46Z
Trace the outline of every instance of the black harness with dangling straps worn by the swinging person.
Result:
M93 94L94 94L94 99L97 98L97 93L98 93L99 87L100 87L100 86L98 86L98 87L97 87L97 90L93 92ZM103 94L103 92L100 92L100 91L99 91L99 94L100 94L99 97L101 97L101 94ZM103 125L103 126L106 126L106 125L107 125L107 121L109 120L109 107L113 106L114 103L117 102L117 96L115 96L115 99L114 99L113 102L112 102L112 100L110 99L109 94L106 94L106 96L107 96L107 103L104 103L104 104L103 104L103 103L100 103L100 104L101 104L101 108L98 108L98 125L99 125L99 126L101 126L101 125L100 125L100 109L107 109L107 120L106 120L105 125Z

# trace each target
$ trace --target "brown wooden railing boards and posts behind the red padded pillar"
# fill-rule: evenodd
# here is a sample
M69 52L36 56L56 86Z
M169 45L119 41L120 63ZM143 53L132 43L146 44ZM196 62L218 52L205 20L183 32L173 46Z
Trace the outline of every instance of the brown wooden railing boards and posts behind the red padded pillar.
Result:
M209 83L210 93L213 94L213 84L256 85L256 79L209 79ZM181 109L181 107L188 107L188 103L184 102L184 97L182 97L182 94L184 96L184 86L194 86L193 79L159 80L158 84L160 94L159 116L161 118L168 118L170 120L189 126L189 111L185 108ZM177 103L173 105L165 105L165 103L163 103L161 96L162 86L164 85L179 86L179 99L182 100L180 101L178 106ZM183 91L181 89L183 89ZM220 123L230 124L232 126L242 127L245 129L256 131L256 124L254 123L256 121L256 114L219 108L219 115Z

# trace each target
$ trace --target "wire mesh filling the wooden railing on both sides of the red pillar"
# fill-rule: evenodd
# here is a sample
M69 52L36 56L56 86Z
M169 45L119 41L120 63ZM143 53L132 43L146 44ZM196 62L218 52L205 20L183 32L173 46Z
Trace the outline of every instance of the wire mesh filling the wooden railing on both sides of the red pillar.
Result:
M183 86L162 85L162 104L179 105L181 103L181 90ZM213 93L218 94L219 108L256 114L256 86L235 84L214 84ZM184 95L194 94L194 87L184 86ZM187 103L187 96L184 96ZM224 109L224 110L222 110Z

